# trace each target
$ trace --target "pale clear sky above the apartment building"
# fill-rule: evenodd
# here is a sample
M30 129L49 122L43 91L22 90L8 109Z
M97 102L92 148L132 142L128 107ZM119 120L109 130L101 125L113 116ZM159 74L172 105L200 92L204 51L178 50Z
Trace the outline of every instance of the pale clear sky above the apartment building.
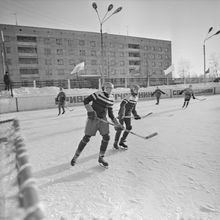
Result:
M0 23L99 32L93 0L0 0ZM172 62L183 60L191 73L203 74L203 41L220 30L220 0L97 0L102 18L110 3L118 14L103 32L172 41ZM220 34L206 41L206 58L220 60Z

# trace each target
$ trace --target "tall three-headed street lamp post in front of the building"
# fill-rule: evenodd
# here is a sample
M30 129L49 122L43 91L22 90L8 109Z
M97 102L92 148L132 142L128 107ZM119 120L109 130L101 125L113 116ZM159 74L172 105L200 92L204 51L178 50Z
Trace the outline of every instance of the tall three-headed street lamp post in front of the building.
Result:
M105 13L104 17L101 19L99 16L99 12L98 12L98 6L95 2L92 3L92 7L94 8L94 10L96 11L96 14L98 16L99 19L99 25L100 25L100 36L101 36L101 78L102 78L102 82L105 81L104 78L104 74L103 74L103 32L102 32L102 25L114 14L120 12L122 10L122 7L117 8L112 14L108 15L108 12L110 12L113 8L113 4L110 4L108 6L107 12Z

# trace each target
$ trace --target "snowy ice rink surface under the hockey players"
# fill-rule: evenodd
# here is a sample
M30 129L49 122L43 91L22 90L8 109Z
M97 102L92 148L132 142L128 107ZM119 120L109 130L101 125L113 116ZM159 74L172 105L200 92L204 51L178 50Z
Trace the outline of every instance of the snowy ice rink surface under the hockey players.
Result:
M91 138L75 167L70 160L83 137L83 106L57 117L57 109L1 115L16 117L48 220L219 220L220 95L205 101L183 98L140 101L127 151L112 149L98 165L101 137ZM119 103L115 104L115 114Z

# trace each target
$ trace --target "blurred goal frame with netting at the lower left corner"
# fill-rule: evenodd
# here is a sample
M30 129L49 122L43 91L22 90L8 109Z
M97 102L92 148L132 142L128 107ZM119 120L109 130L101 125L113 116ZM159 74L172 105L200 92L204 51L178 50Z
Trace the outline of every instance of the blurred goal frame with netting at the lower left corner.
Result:
M19 122L0 121L0 219L43 218Z

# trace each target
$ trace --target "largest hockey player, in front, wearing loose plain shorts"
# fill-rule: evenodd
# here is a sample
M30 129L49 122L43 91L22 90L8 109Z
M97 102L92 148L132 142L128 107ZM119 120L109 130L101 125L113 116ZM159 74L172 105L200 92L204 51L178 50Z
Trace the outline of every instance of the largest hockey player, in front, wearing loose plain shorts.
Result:
M113 95L111 94L113 84L106 82L102 86L102 91L97 91L84 99L84 106L87 110L88 120L85 127L85 135L80 141L74 157L71 160L71 165L74 166L77 158L83 151L86 144L89 142L91 136L95 136L99 131L102 136L102 142L99 151L98 162L101 166L108 167L108 163L104 160L104 155L110 139L109 124L98 120L106 119L106 115L111 118L116 127L121 127L113 114ZM91 103L91 104L90 104Z

